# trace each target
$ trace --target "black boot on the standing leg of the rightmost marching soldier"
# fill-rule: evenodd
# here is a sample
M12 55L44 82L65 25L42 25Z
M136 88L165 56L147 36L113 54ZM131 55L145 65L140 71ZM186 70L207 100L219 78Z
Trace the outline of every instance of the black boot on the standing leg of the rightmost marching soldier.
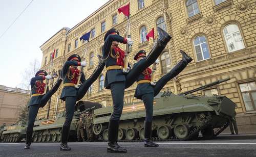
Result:
M145 121L145 125L144 125L144 129L145 129L145 140L144 140L144 146L145 147L159 147L158 144L154 143L151 141L151 131L152 131L152 122L147 122Z

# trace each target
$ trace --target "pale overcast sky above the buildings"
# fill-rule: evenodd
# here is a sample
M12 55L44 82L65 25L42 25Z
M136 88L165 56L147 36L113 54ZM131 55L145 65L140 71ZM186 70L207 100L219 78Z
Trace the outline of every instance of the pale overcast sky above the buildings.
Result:
M39 48L61 28L72 28L109 0L34 0L0 38L0 85L16 87L21 73L37 59ZM0 0L0 36L31 0Z

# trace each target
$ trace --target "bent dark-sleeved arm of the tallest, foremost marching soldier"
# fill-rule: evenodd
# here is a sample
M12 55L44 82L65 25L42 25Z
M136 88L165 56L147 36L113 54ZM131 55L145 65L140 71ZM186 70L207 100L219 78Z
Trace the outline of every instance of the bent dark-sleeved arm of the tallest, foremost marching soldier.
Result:
M124 38L124 37L121 37L117 34L109 35L108 37L106 37L104 45L102 46L103 57L108 56L108 54L110 53L110 48L111 48L111 45L112 45L113 41L118 41L118 42L121 42L123 44L127 43L127 39Z

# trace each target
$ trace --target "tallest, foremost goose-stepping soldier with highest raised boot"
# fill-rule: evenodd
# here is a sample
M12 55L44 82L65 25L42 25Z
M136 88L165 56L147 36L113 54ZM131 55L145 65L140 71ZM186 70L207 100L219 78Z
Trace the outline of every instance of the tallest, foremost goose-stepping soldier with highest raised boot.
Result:
M162 50L166 46L171 37L162 29L158 28L159 39L151 50L147 58L141 60L136 68L129 72L123 70L124 67L124 51L118 47L119 42L132 45L131 38L123 38L119 36L116 29L111 29L104 36L104 45L102 46L102 54L106 65L106 75L104 86L111 89L113 99L113 114L109 122L109 143L108 152L125 153L127 150L117 144L119 119L123 109L124 89L130 87L137 79L139 74L148 66L153 64Z

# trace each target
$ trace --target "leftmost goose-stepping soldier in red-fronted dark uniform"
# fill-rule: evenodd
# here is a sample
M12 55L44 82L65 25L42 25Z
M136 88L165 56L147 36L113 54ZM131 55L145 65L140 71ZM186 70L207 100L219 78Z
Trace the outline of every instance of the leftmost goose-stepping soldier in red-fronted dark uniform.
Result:
M30 149L34 122L39 108L43 108L46 105L47 101L57 91L62 82L62 79L59 77L53 88L44 94L46 84L43 81L45 79L52 79L52 76L47 75L45 70L39 70L36 72L35 77L33 77L30 81L32 96L28 104L28 127L26 133L26 145L24 149Z

